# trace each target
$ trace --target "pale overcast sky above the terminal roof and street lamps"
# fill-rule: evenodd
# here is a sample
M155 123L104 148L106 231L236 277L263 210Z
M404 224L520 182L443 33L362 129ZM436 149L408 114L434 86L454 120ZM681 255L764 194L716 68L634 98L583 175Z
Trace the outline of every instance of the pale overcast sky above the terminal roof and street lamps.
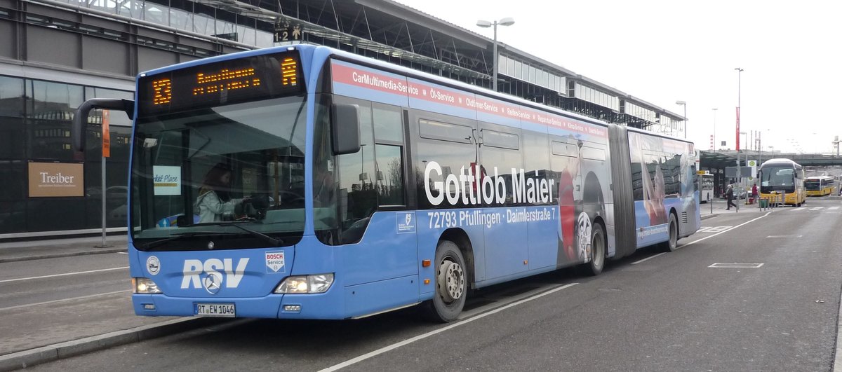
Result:
M504 44L676 114L686 101L687 136L702 150L714 108L717 143L734 148L736 67L740 130L762 131L764 151L830 152L842 136L839 0L397 1L488 38L477 19L512 17L498 26Z

